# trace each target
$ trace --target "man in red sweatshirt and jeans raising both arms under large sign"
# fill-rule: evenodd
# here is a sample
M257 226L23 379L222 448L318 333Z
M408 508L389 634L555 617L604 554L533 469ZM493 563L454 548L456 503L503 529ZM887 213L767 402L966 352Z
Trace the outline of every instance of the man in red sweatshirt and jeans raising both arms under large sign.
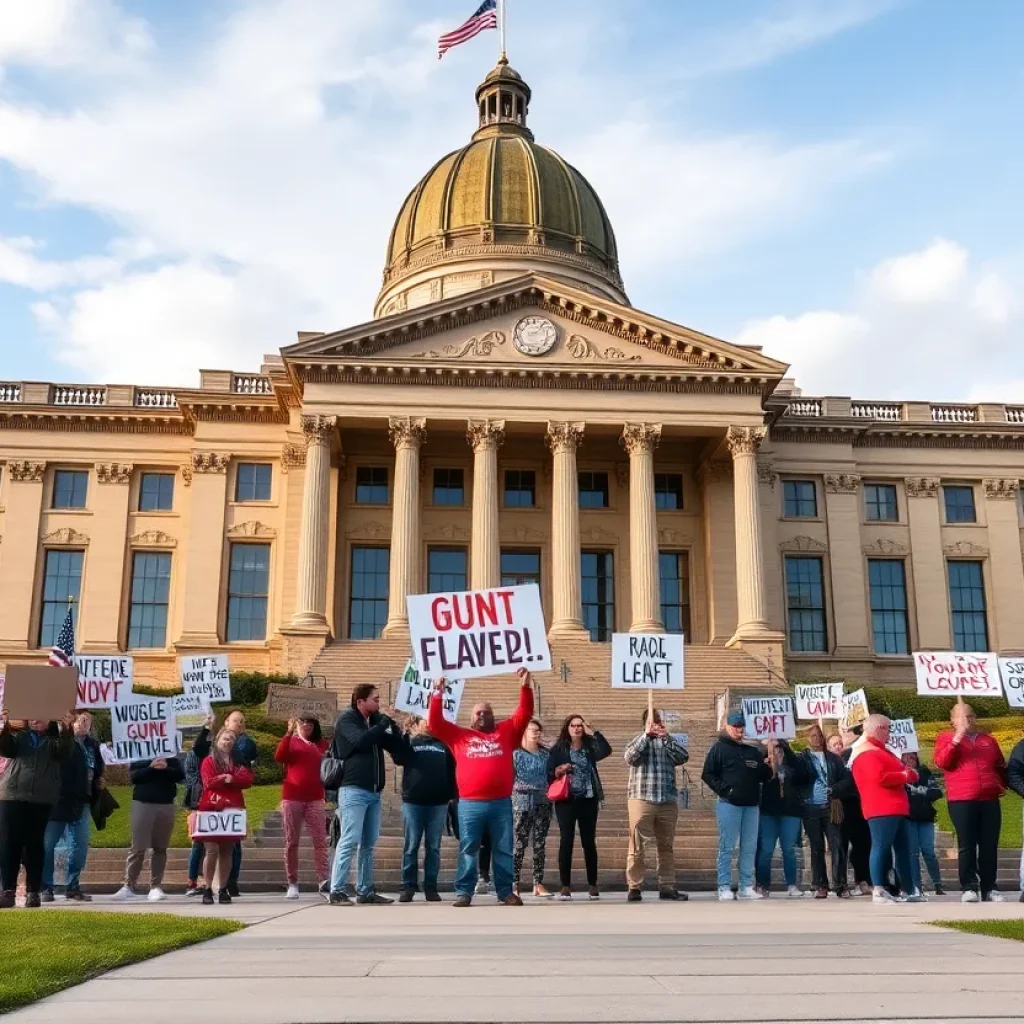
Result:
M534 680L519 670L522 687L519 706L511 718L495 722L488 703L473 708L472 728L463 729L445 721L441 708L444 680L438 679L427 722L430 731L446 743L456 761L459 786L459 868L455 880L459 907L470 906L476 885L476 855L484 828L490 833L498 899L506 906L522 906L512 891L512 785L515 771L512 755L522 741L534 715Z

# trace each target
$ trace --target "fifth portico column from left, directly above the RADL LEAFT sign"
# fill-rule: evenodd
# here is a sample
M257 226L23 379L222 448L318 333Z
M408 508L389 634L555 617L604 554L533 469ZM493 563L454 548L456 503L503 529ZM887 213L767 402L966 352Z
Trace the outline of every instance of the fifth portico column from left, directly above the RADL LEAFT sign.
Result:
M627 423L623 446L630 454L631 633L663 633L657 565L657 509L654 505L654 449L659 423Z

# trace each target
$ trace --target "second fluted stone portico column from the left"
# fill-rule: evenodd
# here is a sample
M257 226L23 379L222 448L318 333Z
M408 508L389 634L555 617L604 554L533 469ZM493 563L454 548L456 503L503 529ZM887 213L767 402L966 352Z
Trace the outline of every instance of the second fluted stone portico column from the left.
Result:
M386 637L409 636L406 598L420 592L420 445L426 420L391 417L388 434L394 444L394 494L391 501L391 569Z

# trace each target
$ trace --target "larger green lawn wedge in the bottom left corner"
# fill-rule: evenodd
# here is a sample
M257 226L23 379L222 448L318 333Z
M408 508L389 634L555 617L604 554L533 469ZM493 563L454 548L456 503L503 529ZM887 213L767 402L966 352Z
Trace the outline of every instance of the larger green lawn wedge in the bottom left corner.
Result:
M243 927L238 921L170 913L4 910L0 913L0 1014L114 968Z

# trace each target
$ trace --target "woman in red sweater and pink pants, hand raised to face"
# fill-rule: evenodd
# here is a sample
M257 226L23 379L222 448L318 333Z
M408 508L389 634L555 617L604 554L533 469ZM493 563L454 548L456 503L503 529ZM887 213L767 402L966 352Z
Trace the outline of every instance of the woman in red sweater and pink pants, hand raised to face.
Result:
M285 766L281 816L285 822L285 876L288 892L285 899L299 898L299 837L302 822L313 841L318 891L326 894L330 870L327 857L327 820L324 785L319 780L321 762L328 742L321 734L315 718L293 718L288 732L278 744L273 759Z

